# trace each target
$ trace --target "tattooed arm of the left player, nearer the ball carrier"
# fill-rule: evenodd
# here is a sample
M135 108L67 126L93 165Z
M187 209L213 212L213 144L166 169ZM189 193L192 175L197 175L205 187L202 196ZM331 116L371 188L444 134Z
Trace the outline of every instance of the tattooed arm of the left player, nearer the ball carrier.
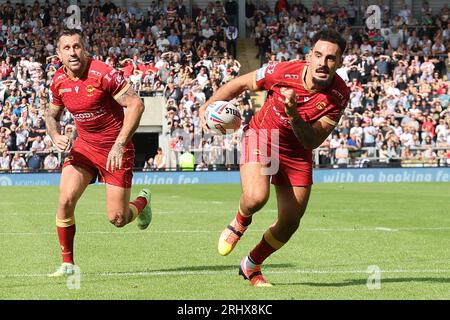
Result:
M122 107L127 108L127 112L123 120L123 127L108 155L106 170L111 170L111 172L114 172L116 169L122 169L124 147L130 142L138 128L145 109L142 99L130 85L128 85L124 93L114 96L114 99Z

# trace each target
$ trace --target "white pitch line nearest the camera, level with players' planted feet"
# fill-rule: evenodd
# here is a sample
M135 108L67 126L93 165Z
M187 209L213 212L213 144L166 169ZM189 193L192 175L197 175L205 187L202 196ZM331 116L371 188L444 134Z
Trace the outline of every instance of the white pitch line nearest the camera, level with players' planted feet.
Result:
M450 273L450 270L445 269L430 269L430 270L380 270L381 273ZM83 276L96 276L96 277L140 277L140 276L202 276L202 275L216 275L216 274L235 274L234 270L221 270L221 271L143 271L143 272L84 272ZM367 274L367 270L267 270L268 274ZM12 273L12 274L0 274L0 278L38 278L47 277L47 273Z

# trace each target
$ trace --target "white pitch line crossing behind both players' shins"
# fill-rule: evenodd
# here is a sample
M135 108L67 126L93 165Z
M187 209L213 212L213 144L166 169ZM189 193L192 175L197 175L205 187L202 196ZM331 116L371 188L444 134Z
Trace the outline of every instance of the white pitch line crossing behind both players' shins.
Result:
M385 228L385 227L372 227L372 228L305 228L301 229L301 232L399 232L399 231L446 231L450 230L450 227L411 227L411 228ZM152 230L151 233L220 233L222 230ZM247 232L264 232L265 230L253 229ZM145 234L142 231L77 231L77 234ZM0 232L0 236L33 236L33 235L54 235L55 232L43 231L43 232Z

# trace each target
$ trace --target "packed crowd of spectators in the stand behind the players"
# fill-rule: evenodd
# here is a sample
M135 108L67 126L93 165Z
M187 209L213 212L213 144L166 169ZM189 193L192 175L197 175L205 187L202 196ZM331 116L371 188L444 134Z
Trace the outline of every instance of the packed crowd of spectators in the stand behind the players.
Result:
M450 10L432 12L425 1L413 16L398 14L382 0L381 29L365 27L368 1L349 0L326 8L316 1L246 1L246 27L261 65L304 59L317 30L336 28L348 42L338 74L351 89L349 106L336 130L315 152L316 165L376 163L450 165ZM81 26L95 59L121 69L141 96L166 98L167 154L158 150L145 170L175 168L182 153L195 152L197 170L236 164L239 135L202 136L198 108L240 73L238 4L208 3L188 10L182 0L134 2L117 7L105 0L81 2ZM52 75L61 66L58 31L69 20L68 1L0 5L0 170L58 170L61 159L46 134L44 114ZM237 54L237 56L236 56ZM234 103L244 123L254 109L248 93ZM61 129L76 137L73 117Z

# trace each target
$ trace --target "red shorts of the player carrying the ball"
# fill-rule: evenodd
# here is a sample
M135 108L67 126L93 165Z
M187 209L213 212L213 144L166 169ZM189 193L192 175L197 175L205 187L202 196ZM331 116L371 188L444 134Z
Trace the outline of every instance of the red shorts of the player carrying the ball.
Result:
M289 148L278 130L254 129L247 126L242 136L241 162L262 163L271 182L279 186L309 186L312 179L310 151Z

